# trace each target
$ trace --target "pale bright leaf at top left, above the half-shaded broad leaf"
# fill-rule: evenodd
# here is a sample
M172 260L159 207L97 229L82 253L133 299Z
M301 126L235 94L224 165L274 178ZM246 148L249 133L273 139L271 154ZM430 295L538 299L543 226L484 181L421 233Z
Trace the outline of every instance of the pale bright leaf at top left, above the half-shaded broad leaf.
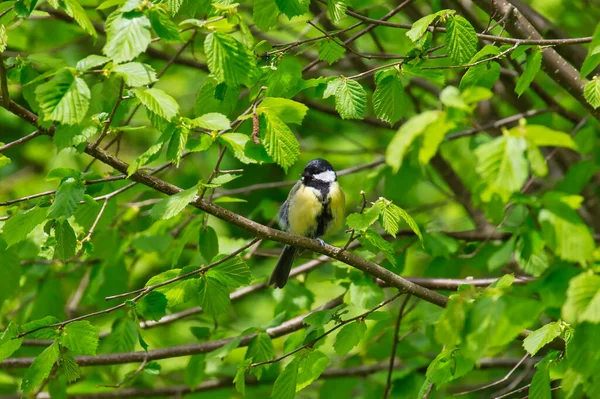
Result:
M106 20L106 44L102 52L120 64L146 51L151 42L150 21L141 12L113 12Z

